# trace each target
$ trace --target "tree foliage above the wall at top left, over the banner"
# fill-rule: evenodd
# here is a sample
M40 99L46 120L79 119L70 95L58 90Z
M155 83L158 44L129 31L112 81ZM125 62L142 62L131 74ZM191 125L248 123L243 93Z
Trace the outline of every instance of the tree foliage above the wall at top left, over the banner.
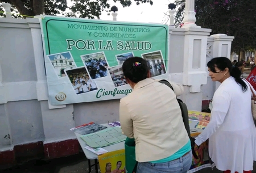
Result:
M129 7L131 5L130 0L113 0L114 2L120 2L123 7ZM26 16L35 16L43 14L47 15L64 15L73 16L79 18L90 18L95 17L100 19L102 11L110 12L109 0L71 0L74 3L73 6L68 7L67 0L0 0L0 3L10 3L12 12L19 12ZM134 0L134 2L139 5L140 3L150 3L151 0ZM69 9L70 12L66 12ZM2 5L0 5L0 11L3 11ZM3 12L0 16L3 16ZM20 18L22 16L13 14L14 18Z

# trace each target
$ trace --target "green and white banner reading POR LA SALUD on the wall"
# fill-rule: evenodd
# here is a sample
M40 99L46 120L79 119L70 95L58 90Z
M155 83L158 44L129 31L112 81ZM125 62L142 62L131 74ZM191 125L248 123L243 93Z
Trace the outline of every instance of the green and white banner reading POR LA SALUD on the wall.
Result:
M123 62L144 58L167 78L168 26L44 16L40 19L52 105L121 99L132 90Z

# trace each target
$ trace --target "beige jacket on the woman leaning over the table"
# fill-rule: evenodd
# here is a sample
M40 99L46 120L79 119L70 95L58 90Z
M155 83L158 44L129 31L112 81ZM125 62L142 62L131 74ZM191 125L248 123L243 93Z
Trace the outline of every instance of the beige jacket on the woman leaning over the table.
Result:
M127 137L135 138L138 162L170 157L189 140L176 100L183 86L170 83L175 93L154 79L144 79L120 100L121 128Z

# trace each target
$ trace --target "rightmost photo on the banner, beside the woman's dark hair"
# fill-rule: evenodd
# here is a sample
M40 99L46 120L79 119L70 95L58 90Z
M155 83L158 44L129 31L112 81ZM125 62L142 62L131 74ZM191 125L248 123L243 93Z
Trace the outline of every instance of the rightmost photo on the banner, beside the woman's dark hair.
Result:
M160 50L142 54L142 58L147 61L147 65L150 67L151 77L166 74L166 66Z

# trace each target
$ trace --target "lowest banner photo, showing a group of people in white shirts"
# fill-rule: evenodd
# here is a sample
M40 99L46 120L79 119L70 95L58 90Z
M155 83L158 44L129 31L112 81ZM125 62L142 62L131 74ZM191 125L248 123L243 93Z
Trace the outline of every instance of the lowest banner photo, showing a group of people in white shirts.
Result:
M88 71L85 69L85 67L65 70L65 73L69 78L76 94L98 90L96 83L90 79Z

